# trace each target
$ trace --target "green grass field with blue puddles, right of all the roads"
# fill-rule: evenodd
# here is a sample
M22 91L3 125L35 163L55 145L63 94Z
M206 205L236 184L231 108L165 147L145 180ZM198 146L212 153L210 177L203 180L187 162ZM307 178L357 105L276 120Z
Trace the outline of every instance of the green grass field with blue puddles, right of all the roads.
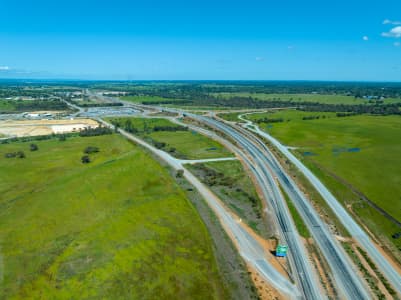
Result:
M302 120L319 115L319 119ZM325 118L322 116L325 115ZM282 143L297 147L295 153L320 177L344 204L378 237L397 247L401 231L351 189L362 192L397 220L401 220L401 117L358 115L336 117L330 113L283 111L248 116L283 118L260 127ZM334 176L333 176L334 175ZM397 251L396 251L397 252Z

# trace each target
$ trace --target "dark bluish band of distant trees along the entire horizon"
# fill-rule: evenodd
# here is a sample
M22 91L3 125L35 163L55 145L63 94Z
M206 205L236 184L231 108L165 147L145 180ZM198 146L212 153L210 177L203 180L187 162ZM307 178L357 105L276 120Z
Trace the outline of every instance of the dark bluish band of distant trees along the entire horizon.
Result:
M54 92L85 88L128 92L135 96L196 99L212 93L266 93L348 95L352 97L401 98L401 83L322 81L57 81L0 80L0 98L49 97Z

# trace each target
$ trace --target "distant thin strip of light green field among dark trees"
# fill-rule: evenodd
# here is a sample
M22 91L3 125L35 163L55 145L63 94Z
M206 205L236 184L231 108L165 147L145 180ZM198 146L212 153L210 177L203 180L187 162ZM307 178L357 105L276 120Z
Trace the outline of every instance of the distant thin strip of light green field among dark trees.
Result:
M293 102L318 102L324 104L365 104L369 103L368 100L345 95L319 95L319 94L264 94L264 93L214 93L214 96L221 97L252 97L262 101L269 100L282 100ZM401 99L385 99L384 103L401 102Z

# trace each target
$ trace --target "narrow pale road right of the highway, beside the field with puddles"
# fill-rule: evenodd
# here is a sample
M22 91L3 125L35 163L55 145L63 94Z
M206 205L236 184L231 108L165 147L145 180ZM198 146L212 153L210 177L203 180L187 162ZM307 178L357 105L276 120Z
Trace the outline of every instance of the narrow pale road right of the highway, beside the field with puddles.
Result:
M241 117L242 118L242 117ZM393 287L401 294L401 276L394 269L394 267L387 261L380 251L374 246L369 236L362 230L362 228L354 221L351 215L344 209L340 202L334 197L334 195L324 186L324 184L307 168L305 165L296 158L284 145L282 145L277 139L267 134L266 132L259 129L258 126L254 125L249 120L243 119L247 122L248 129L255 133L265 137L275 147L277 147L298 169L305 175L311 184L316 188L320 195L325 199L327 204L331 207L333 212L338 217L338 220L347 228L349 233L358 241L358 243L366 250L369 256L373 259L376 265L379 267L383 275L391 282ZM249 125L252 125L250 127Z

